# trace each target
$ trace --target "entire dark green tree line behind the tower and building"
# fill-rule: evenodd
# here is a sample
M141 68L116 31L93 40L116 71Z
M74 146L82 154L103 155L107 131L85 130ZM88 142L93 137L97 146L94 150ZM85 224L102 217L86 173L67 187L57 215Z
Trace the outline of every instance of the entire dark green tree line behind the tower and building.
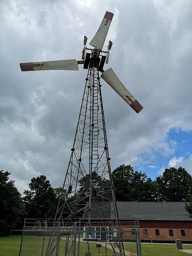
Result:
M22 197L14 181L9 180L10 174L0 171L0 236L22 228L24 218L54 218L61 194L61 187L53 188L46 176L40 175L31 179ZM131 165L120 165L112 172L112 177L117 201L189 202L185 209L192 217L192 177L185 168L166 168L162 175L152 180L145 173L134 171ZM87 178L80 179L79 191L87 189ZM92 182L109 181L101 180L94 173ZM63 196L61 200L64 199Z

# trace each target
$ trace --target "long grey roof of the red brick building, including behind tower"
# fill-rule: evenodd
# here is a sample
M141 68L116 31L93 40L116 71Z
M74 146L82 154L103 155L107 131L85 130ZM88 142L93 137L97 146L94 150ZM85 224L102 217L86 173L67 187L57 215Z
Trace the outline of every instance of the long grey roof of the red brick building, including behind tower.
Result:
M105 203L107 202L101 202L103 206ZM113 203L108 202L106 205L104 209L103 206L96 206L92 202L91 219L114 219ZM103 209L97 209L97 207ZM185 202L117 202L117 209L120 221L136 219L145 221L192 221L192 218L186 215ZM88 211L85 214L85 219L88 219Z

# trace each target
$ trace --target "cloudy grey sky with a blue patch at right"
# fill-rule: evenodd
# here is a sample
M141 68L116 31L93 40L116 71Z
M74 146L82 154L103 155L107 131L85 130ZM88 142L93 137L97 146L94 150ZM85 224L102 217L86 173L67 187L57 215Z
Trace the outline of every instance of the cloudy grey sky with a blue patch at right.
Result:
M62 186L87 71L21 72L19 63L80 60L105 11L114 18L104 70L143 105L136 114L101 81L112 170L131 164L155 179L182 166L192 175L192 1L1 0L0 166L22 194L39 175Z

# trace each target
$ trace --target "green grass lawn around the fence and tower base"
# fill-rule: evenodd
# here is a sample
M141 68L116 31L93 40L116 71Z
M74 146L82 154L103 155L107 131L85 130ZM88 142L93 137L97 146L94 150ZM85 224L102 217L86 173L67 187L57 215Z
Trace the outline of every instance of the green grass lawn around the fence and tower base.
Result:
M0 256L18 256L21 236L10 236L10 237L0 237ZM40 237L25 237L24 243L30 242L30 246L27 246L22 255L28 256L40 256L42 248L42 238ZM48 238L45 241L45 246L48 242ZM61 241L61 247L65 246L65 241ZM87 250L86 242L80 242L80 247L82 248L82 255L85 254ZM35 252L34 252L35 249ZM136 252L136 244L124 243L124 249L132 252ZM141 244L142 255L143 256L189 256L190 254L179 251L176 249L175 244ZM183 245L183 249L192 249L192 245ZM98 248L96 248L95 243L90 243L90 251L92 256L98 255ZM111 256L113 253L110 249L107 249L107 255ZM100 256L105 255L105 248L102 246L100 248Z

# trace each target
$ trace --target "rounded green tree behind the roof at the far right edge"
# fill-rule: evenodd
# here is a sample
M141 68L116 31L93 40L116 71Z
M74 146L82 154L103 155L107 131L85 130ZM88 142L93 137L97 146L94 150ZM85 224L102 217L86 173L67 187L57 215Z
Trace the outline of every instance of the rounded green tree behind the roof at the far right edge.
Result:
M188 201L192 195L192 177L185 168L170 167L156 178L163 201Z

